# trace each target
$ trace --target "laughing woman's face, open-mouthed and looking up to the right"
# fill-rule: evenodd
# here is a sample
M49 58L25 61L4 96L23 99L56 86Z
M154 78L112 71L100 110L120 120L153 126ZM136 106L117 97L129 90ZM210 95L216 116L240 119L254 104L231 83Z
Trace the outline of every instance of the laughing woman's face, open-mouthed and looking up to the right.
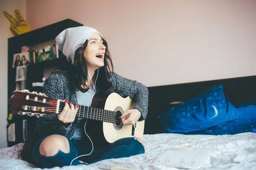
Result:
M87 69L95 71L104 66L105 45L99 34L94 33L88 39L87 47L84 50L84 59L87 62Z

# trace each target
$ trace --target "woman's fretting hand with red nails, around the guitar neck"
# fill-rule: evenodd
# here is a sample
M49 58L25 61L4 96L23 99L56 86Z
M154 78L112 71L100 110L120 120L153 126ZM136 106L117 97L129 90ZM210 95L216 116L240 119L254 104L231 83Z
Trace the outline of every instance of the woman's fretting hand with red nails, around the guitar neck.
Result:
M79 105L75 106L72 102L70 102L70 105L66 101L65 106L60 114L58 114L58 119L63 123L70 123L74 122L76 117L76 112L78 111Z

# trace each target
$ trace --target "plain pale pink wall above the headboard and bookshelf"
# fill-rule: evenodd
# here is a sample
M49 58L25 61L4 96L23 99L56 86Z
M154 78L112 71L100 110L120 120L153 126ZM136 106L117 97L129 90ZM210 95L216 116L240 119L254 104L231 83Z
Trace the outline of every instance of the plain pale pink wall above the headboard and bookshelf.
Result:
M147 86L256 75L256 0L26 0L32 29L96 28L115 71Z

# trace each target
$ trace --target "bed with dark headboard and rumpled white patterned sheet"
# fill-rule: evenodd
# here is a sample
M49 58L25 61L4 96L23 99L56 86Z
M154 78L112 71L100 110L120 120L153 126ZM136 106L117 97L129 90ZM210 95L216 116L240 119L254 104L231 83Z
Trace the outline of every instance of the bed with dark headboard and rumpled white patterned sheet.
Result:
M177 85L165 85L148 87L149 103L148 116L145 120L143 141L145 154L121 159L109 159L90 165L54 167L52 170L178 170L176 167L167 166L157 162L157 158L170 147L214 147L210 155L202 161L199 169L202 170L249 170L256 169L256 131L253 126L256 123L253 116L247 116L250 122L244 122L243 131L233 130L227 134L210 134L209 129L189 133L170 133L161 124L159 115L163 111L179 106L184 101L201 94L215 85L222 85L227 99L237 108L254 105L256 102L256 76L221 79L204 82L184 83ZM256 112L255 112L256 115ZM234 121L230 121L234 122ZM228 123L219 125L225 126ZM233 124L239 126L242 125ZM251 127L251 128L250 128ZM20 151L23 143L12 147L0 149L0 169L37 170L40 168L23 161ZM119 168L118 168L119 167Z

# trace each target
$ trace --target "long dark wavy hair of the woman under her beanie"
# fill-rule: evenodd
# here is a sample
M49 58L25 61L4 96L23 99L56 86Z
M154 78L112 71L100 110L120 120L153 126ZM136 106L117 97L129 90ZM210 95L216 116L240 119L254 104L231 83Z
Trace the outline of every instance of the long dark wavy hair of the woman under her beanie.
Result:
M104 66L99 68L94 72L92 77L93 82L97 77L96 88L98 91L105 91L109 88L112 91L112 84L110 82L111 72L113 71L113 63L111 59L110 52L108 50L108 43L102 38L103 45L105 45L105 55L104 55ZM71 82L76 90L80 90L82 92L88 91L90 85L87 85L87 62L84 59L84 50L87 47L88 41L86 40L83 44L79 45L75 52L74 64L66 66L67 74L71 79ZM85 87L85 88L84 88Z

